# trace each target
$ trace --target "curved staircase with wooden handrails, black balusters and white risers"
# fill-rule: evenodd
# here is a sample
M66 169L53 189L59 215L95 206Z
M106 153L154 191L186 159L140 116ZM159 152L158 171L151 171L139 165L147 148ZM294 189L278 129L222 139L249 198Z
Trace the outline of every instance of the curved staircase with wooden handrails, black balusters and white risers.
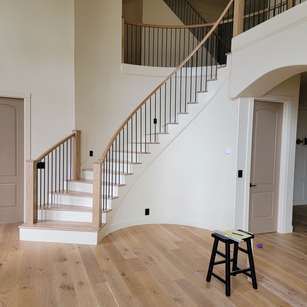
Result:
M80 171L80 130L27 161L21 240L98 244L110 232L134 181L229 78L233 16L231 0L195 49L131 112L93 169Z

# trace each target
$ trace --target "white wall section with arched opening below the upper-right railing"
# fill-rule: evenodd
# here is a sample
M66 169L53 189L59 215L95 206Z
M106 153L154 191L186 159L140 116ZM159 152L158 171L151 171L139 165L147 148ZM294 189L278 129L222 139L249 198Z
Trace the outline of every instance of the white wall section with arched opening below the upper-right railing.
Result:
M232 39L231 97L261 97L307 71L306 11L301 3Z

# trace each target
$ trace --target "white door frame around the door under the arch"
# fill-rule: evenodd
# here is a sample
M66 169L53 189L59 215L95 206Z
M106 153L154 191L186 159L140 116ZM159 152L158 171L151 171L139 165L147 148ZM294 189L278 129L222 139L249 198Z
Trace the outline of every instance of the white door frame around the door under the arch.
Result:
M260 98L250 98L250 108L247 124L247 167L246 167L246 187L245 191L245 208L244 208L244 228L248 230L249 222L249 199L250 199L250 176L251 176L251 147L253 133L253 114L254 101L268 101L283 103L282 110L282 141L280 152L280 171L279 171L279 188L278 188L278 216L277 216L277 232L287 233L292 232L292 229L287 229L287 198L288 198L288 177L289 177L289 162L290 162L290 130L291 130L291 113L292 113L292 97L278 95L263 95ZM289 227L289 226L288 226Z

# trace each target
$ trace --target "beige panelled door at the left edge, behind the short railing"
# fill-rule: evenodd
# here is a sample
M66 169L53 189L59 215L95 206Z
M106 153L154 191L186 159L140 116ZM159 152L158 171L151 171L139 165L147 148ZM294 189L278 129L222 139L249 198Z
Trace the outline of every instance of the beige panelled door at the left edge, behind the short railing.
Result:
M0 223L23 221L24 102L0 97Z

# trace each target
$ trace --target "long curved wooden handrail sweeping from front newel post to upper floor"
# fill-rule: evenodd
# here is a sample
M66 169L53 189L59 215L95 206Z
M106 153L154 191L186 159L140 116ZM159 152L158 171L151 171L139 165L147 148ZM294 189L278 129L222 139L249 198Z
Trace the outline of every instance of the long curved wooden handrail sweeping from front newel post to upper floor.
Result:
M218 20L215 22L214 26L210 29L210 31L204 37L204 39L202 41L200 41L200 43L194 48L194 50L185 58L185 60L183 60L182 63L164 81L162 81L149 95L147 95L147 97L130 113L130 115L126 118L126 120L122 123L122 125L116 130L116 132L113 135L113 137L111 138L110 142L107 144L107 147L106 147L106 149L104 150L104 152L101 156L99 164L103 164L105 158L107 157L107 153L109 152L109 150L111 148L111 145L114 143L115 139L119 135L119 132L129 122L129 120L135 114L135 112L137 112L146 103L146 101L148 99L150 99L150 97L152 97L153 94L156 93L170 78L172 78L176 74L176 72L178 72L184 66L184 64L187 63L188 60L190 60L192 58L192 56L197 52L197 50L202 47L204 42L206 42L208 40L208 38L211 36L211 34L216 30L217 26L220 24L224 15L227 13L228 9L231 7L233 2L234 2L234 0L229 1L228 5L224 9L223 13L218 18Z

